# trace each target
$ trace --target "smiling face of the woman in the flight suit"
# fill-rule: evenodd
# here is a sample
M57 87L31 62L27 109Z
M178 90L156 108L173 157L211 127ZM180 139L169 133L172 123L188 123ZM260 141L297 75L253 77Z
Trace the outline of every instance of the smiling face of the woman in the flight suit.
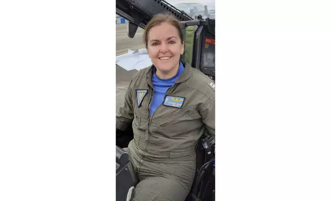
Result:
M147 51L157 70L169 74L173 71L177 72L180 55L184 52L184 44L181 43L174 26L161 23L150 29Z

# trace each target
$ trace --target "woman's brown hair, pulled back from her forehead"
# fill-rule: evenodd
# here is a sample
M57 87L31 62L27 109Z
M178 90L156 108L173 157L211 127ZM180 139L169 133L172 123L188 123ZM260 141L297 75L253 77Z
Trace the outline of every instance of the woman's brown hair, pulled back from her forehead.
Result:
M164 22L169 23L170 25L174 26L177 29L178 35L180 37L180 41L181 41L181 43L183 43L183 34L181 32L178 19L175 16L173 16L171 13L159 13L159 14L154 15L153 18L150 20L150 22L145 27L143 42L144 42L146 48L148 46L148 33L151 30L151 28L158 26Z

